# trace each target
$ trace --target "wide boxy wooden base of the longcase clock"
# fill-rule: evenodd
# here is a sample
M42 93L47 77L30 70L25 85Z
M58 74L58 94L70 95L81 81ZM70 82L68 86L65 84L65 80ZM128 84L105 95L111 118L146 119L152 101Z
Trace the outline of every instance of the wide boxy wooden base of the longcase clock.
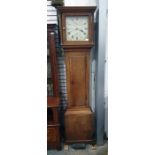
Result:
M89 108L67 109L65 113L66 143L91 143L93 114Z

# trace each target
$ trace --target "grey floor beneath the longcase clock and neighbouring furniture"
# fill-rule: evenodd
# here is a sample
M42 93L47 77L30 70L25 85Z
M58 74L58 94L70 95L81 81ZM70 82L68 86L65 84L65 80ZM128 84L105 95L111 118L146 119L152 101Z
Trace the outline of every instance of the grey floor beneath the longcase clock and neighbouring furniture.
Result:
M93 149L91 145L87 145L86 149L73 149L69 146L68 150L49 150L47 155L108 155L108 145L97 146Z

